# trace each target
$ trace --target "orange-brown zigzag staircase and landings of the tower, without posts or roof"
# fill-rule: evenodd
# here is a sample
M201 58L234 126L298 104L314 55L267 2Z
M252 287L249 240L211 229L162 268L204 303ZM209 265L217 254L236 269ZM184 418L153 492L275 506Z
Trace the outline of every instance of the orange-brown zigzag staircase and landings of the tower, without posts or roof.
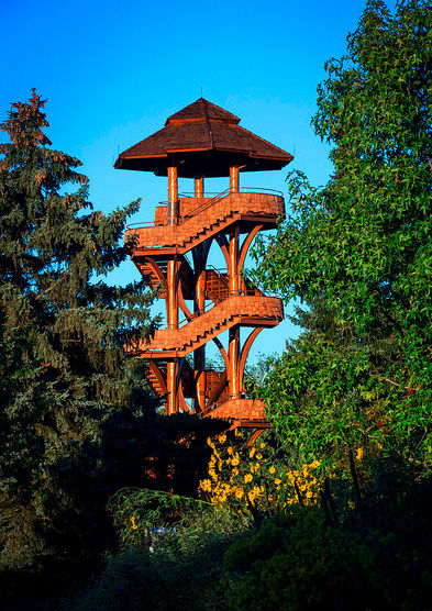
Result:
M235 333L240 326L272 327L284 318L281 300L264 295L241 279L240 269L236 271L240 278L239 291L230 295L230 273L226 269L206 266L200 271L202 267L198 266L193 270L185 256L190 252L197 265L199 248L204 248L212 238L221 240L219 236L222 236L222 243L226 245L226 258L231 248L228 238L232 240L233 231L240 235L250 233L256 225L258 229L276 226L277 219L284 214L283 197L267 192L224 192L215 198L182 198L179 200L179 210L182 215L175 225L167 224L167 208L158 207L154 226L130 227L125 235L125 241L133 235L135 247L132 259L152 289L160 287L159 298L168 299L168 262L177 262L176 295L186 319L178 325L157 330L149 343L128 346L130 354L148 362L149 385L165 402L167 410L169 392L174 391L173 386L170 391L168 388L167 363L179 364L179 381L176 384L179 403L182 401L185 404L185 399L195 399L198 391L196 373L186 358L188 355L203 349L211 340L218 342L219 335L226 331L233 330ZM235 247L239 248L239 245ZM239 260L240 251L236 257ZM185 299L198 299L198 286L203 291L204 308L192 313ZM201 415L223 418L233 425L267 426L262 401L247 399L244 390L237 391L236 396L231 393L228 369L204 368L201 371L201 380L204 375L204 408ZM170 384L174 384L173 378Z

